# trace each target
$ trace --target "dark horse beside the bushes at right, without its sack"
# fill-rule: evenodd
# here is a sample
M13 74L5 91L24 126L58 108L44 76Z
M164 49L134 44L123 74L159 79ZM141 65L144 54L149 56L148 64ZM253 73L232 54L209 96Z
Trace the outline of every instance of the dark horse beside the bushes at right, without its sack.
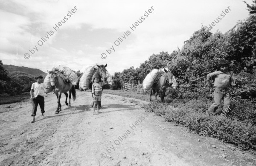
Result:
M170 72L170 70L166 70L165 68L164 68L164 72L165 73L162 76L160 76L159 80L155 82L151 87L150 101L151 101L152 91L153 91L153 94L155 94L155 98L157 100L156 92L159 90L161 102L163 102L163 98L165 97L167 87L172 86L172 76L173 76L172 73Z

